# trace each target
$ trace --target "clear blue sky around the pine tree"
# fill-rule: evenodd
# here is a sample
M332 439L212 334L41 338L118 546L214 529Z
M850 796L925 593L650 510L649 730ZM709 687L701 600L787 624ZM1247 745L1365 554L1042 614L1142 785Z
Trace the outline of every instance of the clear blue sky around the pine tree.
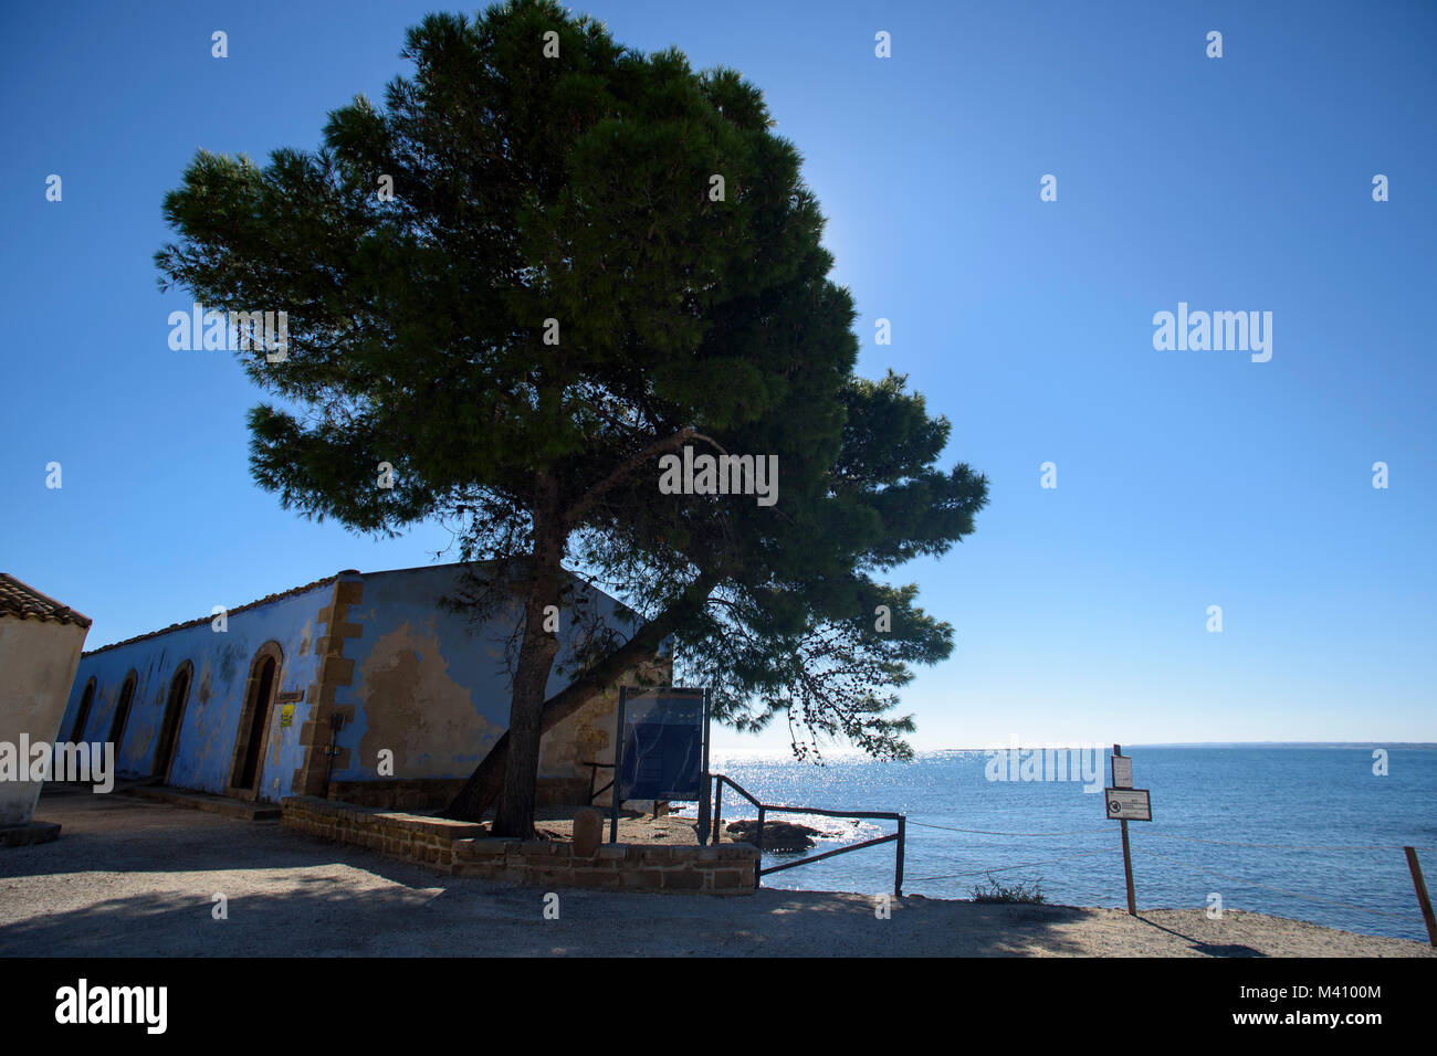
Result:
M328 111L407 72L404 29L437 7L7 11L0 565L93 616L89 647L447 545L257 488L260 394L228 353L170 351L190 302L152 264L198 148L316 145ZM920 749L1437 741L1437 7L573 7L764 91L856 297L859 371L908 374L953 422L946 464L992 481L974 536L901 570L957 631L904 694ZM1155 351L1180 302L1272 312L1272 359Z

